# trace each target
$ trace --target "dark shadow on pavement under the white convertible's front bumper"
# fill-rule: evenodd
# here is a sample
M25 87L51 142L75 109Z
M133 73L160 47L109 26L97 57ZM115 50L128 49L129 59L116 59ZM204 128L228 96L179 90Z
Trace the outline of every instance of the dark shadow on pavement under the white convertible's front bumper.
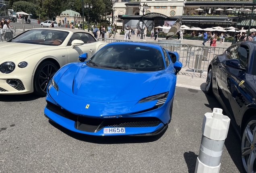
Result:
M19 101L33 101L40 97L33 93L25 95L0 95L0 101L2 102L19 102Z

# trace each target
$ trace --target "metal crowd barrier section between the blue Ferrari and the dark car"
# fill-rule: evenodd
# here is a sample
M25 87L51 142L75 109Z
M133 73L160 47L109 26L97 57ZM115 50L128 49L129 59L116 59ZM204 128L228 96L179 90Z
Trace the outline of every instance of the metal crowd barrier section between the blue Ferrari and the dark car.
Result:
M194 71L192 78L194 78L195 72L200 72L200 77L202 72L207 72L213 57L222 54L226 49L225 47L191 46L188 51L187 62L188 68Z

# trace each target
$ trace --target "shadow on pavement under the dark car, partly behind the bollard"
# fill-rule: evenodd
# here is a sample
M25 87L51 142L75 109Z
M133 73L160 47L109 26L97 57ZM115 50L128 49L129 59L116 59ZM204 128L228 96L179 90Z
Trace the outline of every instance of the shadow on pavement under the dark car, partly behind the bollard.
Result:
M214 95L212 95L212 96L207 95L205 93L205 91L204 91L204 94L209 102L209 104L204 104L206 107L211 108L212 111L213 111L213 108L223 109ZM227 115L224 110L223 110L223 115ZM241 146L240 145L241 145L241 141L240 141L234 127L232 126L232 123L230 123L227 138L225 139L225 147L227 148L227 151L228 151L231 159L233 160L235 166L237 167L237 169L241 173L243 173L244 170L243 170L243 164L242 164L242 159L241 159L241 148L240 148Z

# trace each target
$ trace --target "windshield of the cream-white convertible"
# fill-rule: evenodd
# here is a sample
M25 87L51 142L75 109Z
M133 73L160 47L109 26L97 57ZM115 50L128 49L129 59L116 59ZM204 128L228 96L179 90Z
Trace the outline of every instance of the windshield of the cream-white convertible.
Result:
M28 30L8 42L58 46L62 44L68 33L67 31L51 29Z

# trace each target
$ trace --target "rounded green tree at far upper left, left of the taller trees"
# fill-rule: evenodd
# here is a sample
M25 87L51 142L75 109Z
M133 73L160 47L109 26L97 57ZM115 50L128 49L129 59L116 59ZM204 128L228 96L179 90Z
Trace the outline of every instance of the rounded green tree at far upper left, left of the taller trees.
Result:
M36 5L31 2L19 1L14 2L12 5L12 9L16 12L26 12L28 14L36 14Z

